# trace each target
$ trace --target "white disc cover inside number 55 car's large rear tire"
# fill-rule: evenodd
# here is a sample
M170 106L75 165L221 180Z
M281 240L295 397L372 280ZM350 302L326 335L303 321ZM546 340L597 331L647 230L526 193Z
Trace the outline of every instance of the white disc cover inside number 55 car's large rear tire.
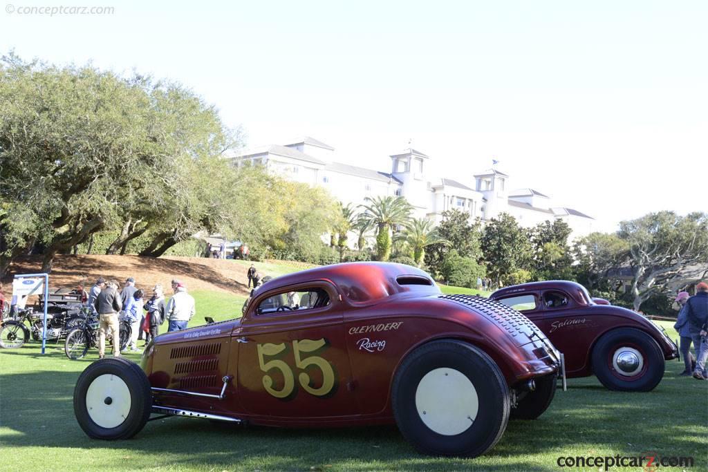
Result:
M479 410L479 398L466 375L442 367L431 370L418 383L416 409L430 430L455 436L472 427Z

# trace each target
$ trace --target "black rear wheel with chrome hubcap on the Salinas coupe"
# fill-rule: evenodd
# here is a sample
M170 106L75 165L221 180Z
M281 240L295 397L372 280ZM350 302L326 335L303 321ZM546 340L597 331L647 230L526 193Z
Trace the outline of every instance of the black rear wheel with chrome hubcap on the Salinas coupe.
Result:
M603 335L593 348L593 372L610 390L653 390L663 377L661 348L650 335L619 328Z

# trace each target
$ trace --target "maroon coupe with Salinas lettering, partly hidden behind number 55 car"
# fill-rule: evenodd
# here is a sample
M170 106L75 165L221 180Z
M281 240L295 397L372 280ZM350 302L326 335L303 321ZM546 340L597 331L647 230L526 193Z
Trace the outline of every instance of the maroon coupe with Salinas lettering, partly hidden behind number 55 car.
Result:
M497 290L491 299L524 313L563 352L566 375L595 374L611 390L650 391L664 359L677 357L670 338L632 310L590 298L576 282L553 280Z

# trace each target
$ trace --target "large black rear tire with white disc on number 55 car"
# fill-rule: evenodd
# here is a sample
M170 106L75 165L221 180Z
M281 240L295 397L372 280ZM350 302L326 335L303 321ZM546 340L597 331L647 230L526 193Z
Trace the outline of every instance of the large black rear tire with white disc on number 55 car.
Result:
M510 398L485 352L440 340L418 347L401 364L392 408L401 434L421 453L476 457L506 430Z

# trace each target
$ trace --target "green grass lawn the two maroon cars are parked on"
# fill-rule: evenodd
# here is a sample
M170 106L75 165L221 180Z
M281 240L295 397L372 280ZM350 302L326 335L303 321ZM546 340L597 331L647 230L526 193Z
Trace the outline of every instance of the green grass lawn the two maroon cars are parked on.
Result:
M194 295L199 320L225 319L243 303L229 294ZM74 419L72 393L95 359L93 350L70 361L52 344L44 356L38 343L0 350L1 471L556 471L564 470L556 466L558 456L647 451L693 456L688 471L708 470L708 382L679 377L683 363L675 361L649 393L607 391L594 377L573 379L541 418L511 421L485 456L444 459L417 454L395 427L280 430L169 418L149 422L130 440L91 440Z

